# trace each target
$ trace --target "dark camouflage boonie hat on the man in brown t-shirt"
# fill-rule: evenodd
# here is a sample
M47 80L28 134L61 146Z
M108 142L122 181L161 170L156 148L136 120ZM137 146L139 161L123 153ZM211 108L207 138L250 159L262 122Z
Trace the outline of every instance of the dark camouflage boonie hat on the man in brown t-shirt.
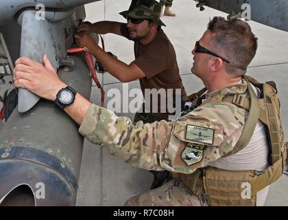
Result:
M161 5L156 0L132 0L129 10L120 12L125 19L150 19L158 25L166 26L160 20Z

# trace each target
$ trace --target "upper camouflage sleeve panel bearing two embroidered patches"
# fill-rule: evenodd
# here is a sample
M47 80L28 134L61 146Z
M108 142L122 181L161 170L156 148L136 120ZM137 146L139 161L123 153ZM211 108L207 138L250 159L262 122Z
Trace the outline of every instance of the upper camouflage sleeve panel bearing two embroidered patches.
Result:
M246 111L227 102L198 107L173 127L162 166L193 173L230 152L241 135Z

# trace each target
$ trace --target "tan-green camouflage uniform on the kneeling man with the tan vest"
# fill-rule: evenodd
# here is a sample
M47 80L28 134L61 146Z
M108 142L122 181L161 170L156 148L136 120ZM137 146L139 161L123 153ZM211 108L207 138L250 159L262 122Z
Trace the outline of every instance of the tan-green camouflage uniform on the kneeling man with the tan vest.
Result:
M211 94L206 102L178 121L133 124L108 109L92 104L80 133L124 162L147 170L189 174L231 151L241 135L247 112L221 100L247 91L245 81ZM194 152L192 159L187 153ZM133 197L126 205L200 206L197 198L178 180ZM204 201L204 202L203 202Z

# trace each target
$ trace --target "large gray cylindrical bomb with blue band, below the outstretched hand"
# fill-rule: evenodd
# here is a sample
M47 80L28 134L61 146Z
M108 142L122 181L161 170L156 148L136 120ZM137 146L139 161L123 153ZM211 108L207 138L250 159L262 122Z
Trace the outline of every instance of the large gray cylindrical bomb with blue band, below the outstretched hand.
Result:
M89 99L91 77L80 56L71 56L77 65L69 72L60 68L58 74ZM25 113L13 111L0 132L0 200L5 203L14 189L28 186L37 206L74 206L84 142L77 129L68 115L46 100Z

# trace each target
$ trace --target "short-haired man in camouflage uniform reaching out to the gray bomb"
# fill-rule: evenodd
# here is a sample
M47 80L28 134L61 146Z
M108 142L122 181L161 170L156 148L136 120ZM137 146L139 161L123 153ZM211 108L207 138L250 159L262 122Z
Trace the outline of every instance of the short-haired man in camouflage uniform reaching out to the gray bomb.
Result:
M248 84L241 77L256 48L257 39L248 23L215 17L192 52L195 63L191 71L203 81L208 93L199 99L199 107L178 121L133 124L129 118L91 104L80 94L64 111L81 125L79 131L84 137L132 166L182 174L193 174L206 166L265 170L268 148L261 124L248 146L239 154L224 157L239 140L248 112L221 100L247 92ZM55 100L58 91L67 85L46 56L43 61L45 67L29 58L19 58L14 69L15 86ZM267 190L263 193L257 194L257 199L264 197L258 205L263 205ZM205 194L197 197L182 181L172 179L160 188L132 197L125 205L206 206L207 200Z

